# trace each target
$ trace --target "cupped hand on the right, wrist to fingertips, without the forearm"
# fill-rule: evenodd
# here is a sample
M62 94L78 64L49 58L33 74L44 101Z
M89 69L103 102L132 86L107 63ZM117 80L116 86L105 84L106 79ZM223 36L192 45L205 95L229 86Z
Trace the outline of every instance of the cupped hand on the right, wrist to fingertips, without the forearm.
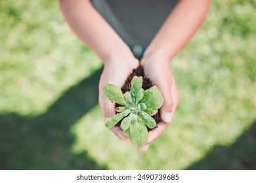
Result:
M158 138L169 125L169 122L171 122L179 103L179 96L175 78L171 73L171 67L167 59L165 60L161 57L142 59L141 64L144 67L145 75L160 89L164 99L163 106L160 108L163 121L158 123L158 127L148 133L148 143L146 146L139 148L140 151L146 151L149 144Z

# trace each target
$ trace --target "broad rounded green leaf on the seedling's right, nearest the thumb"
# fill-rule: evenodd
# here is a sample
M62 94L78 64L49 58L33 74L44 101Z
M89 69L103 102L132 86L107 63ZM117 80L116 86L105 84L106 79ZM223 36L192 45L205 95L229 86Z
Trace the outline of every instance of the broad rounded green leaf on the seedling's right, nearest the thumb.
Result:
M163 96L156 86L152 86L144 92L140 103L145 103L147 110L156 110L163 105Z

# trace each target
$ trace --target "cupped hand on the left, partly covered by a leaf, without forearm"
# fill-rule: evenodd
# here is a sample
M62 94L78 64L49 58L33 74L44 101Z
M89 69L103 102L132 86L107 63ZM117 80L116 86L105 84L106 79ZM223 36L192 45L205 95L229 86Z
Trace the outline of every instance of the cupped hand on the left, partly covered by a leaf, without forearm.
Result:
M133 56L114 57L104 62L104 69L100 76L100 83L98 86L99 97L98 102L104 114L104 122L116 114L115 103L111 103L106 99L103 88L105 84L115 84L120 88L125 84L127 77L139 66L139 61ZM131 142L129 138L123 133L121 127L114 126L110 130L123 141Z

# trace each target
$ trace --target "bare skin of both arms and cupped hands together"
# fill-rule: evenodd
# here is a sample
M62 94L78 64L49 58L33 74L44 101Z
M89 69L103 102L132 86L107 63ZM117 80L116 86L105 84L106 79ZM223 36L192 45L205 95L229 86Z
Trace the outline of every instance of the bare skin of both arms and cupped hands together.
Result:
M145 75L160 89L164 103L160 109L163 121L148 133L148 142L138 148L140 151L148 150L150 143L163 133L173 118L179 96L170 61L202 25L210 3L210 0L180 0L144 53L140 64L144 67ZM115 104L104 97L104 85L111 83L121 88L127 76L139 66L139 61L89 0L76 0L75 3L72 0L59 0L59 5L77 37L94 50L104 63L98 101L106 122L116 112ZM119 139L131 142L120 127L110 130Z

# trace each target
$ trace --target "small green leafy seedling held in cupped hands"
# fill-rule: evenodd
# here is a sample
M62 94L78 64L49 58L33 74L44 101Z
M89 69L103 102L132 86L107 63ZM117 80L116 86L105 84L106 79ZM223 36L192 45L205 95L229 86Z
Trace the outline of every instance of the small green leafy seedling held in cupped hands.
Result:
M119 112L106 122L106 127L114 127L121 121L121 129L137 146L144 146L148 140L148 128L156 127L156 121L152 116L163 105L163 97L160 90L153 86L148 90L142 88L142 77L134 76L131 80L131 91L124 95L121 89L114 84L104 86L106 97L121 107L116 108Z

